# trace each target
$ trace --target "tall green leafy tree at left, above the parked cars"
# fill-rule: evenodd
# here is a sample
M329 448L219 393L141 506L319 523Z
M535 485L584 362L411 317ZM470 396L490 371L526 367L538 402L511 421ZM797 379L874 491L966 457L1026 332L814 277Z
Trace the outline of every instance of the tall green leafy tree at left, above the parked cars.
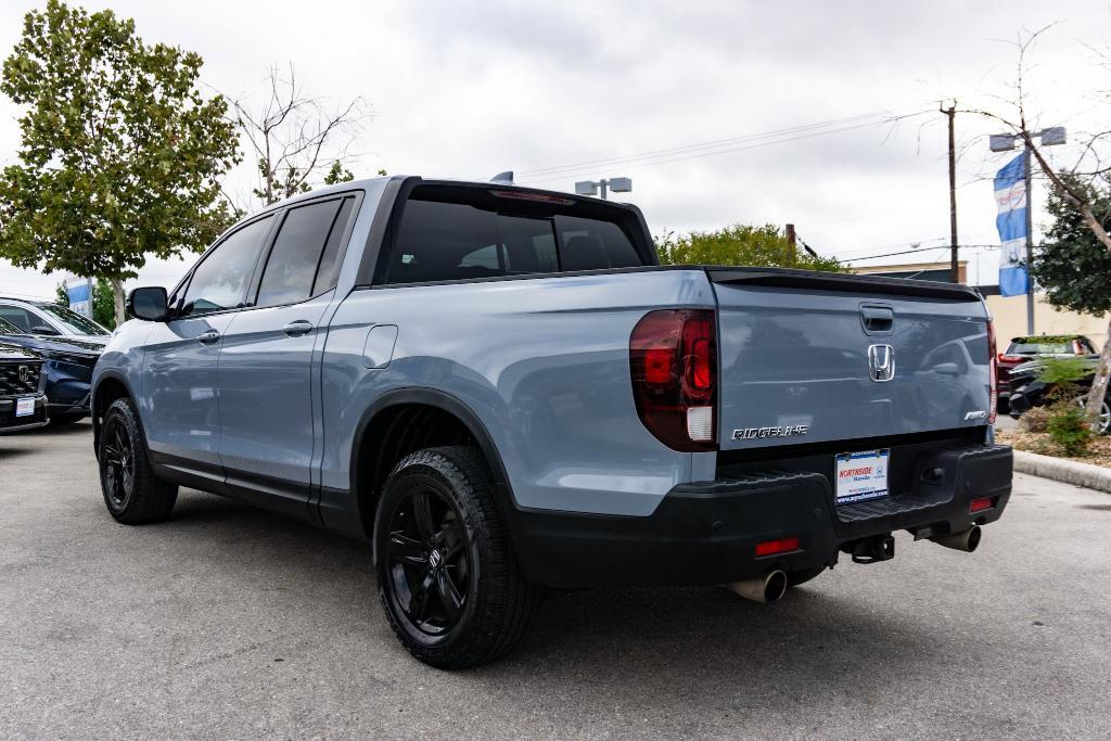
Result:
M23 107L19 163L0 172L0 257L106 279L122 320L122 281L151 256L210 243L232 216L219 179L238 136L224 99L201 94L201 64L111 11L27 13L0 80Z

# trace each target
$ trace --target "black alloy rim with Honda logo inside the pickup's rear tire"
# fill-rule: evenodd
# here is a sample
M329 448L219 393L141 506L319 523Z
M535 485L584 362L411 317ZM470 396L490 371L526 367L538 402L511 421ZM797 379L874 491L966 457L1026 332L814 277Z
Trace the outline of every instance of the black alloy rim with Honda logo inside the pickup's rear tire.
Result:
M473 564L462 518L432 487L417 484L390 520L390 598L410 625L447 633L467 608Z

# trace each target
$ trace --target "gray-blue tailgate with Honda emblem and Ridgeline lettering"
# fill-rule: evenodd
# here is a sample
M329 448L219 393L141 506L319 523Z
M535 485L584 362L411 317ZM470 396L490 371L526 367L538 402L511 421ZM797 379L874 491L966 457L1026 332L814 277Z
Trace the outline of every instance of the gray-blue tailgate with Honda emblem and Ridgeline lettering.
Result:
M987 313L965 287L708 270L721 450L983 425Z

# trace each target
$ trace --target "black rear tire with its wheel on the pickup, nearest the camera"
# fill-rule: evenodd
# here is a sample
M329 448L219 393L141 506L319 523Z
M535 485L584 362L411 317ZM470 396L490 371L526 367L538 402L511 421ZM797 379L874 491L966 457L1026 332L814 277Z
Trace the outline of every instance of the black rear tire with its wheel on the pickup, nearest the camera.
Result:
M472 448L429 448L394 467L374 520L374 573L390 627L417 659L466 669L504 655L537 612L494 484Z

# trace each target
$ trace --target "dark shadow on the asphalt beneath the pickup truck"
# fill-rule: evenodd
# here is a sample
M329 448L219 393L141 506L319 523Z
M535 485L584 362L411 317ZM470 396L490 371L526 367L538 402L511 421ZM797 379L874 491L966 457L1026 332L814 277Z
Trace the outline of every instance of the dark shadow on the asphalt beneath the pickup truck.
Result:
M311 592L311 599L280 608L291 623L317 624L324 635L366 631L366 650L376 661L387 655L423 673L378 608L367 543L192 492L158 527L186 541L203 538L204 558L213 561L234 561L249 551L256 568L280 572L291 592ZM241 578L244 589L258 584L256 577ZM466 672L431 672L428 680L524 704L547 693L567 703L567 713L598 718L615 709L789 712L804 702L800 677L825 697L869 697L890 691L908 673L938 671L931 663L958 660L939 654L942 634L871 609L865 595L839 594L840 579L829 572L770 605L717 587L552 589L512 654ZM323 624L323 615L339 620Z

